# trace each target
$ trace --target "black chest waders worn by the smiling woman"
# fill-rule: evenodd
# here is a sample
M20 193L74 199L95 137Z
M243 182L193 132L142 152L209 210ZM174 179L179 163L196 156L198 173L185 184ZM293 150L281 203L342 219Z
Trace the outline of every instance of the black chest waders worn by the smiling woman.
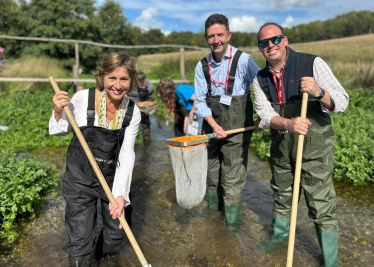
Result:
M126 127L130 124L134 102L130 100L122 128L109 130L94 126L95 89L89 89L87 126L80 127L82 134L100 170L111 188L118 162L119 151ZM125 232L118 228L118 221L109 213L109 200L102 188L78 137L73 136L67 152L66 172L62 193L66 200L65 225L68 238L63 250L68 252L71 266L90 266L90 254L96 245L96 259L119 253ZM97 214L97 204L102 214ZM126 207L127 209L127 207ZM130 207L131 209L131 207ZM125 211L126 220L129 211ZM102 217L103 229L97 240L97 218ZM131 222L128 222L131 225Z

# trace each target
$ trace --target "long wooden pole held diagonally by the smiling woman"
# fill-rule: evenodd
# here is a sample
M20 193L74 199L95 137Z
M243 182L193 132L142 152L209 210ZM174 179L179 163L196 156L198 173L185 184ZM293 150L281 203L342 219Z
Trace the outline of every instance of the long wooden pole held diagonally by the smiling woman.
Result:
M55 90L55 92L58 93L60 91L60 88L58 88L58 85L57 85L55 79L52 76L50 76L49 81L51 82L52 87ZM79 142L81 143L81 145L84 149L84 152L86 152L88 160L90 161L90 163L92 165L92 168L94 169L94 171L97 175L97 178L99 178L99 181L100 181L101 186L103 187L103 189L105 191L105 194L107 195L110 203L115 204L116 200L114 199L112 191L110 191L108 183L106 182L99 166L97 165L96 160L93 157L93 155L91 153L91 150L88 147L87 142L84 139L83 134L82 134L81 130L79 129L79 126L78 126L77 122L75 121L75 118L74 118L73 114L71 113L68 106L64 107L64 111L65 111L65 113L66 113L66 115L69 119L70 124L72 125L72 127L74 129L75 134L77 135L77 137L79 139ZM140 263L142 264L142 266L148 266L148 263L147 263L144 255L143 255L142 251L140 250L140 247L139 247L138 243L136 242L135 237L134 237L133 233L131 232L130 227L127 224L125 218L123 216L119 216L118 219L121 222L121 224L123 226L123 229L126 232L127 238L130 240L130 243L131 243L132 247L134 248L136 255L138 256L138 259L139 259Z

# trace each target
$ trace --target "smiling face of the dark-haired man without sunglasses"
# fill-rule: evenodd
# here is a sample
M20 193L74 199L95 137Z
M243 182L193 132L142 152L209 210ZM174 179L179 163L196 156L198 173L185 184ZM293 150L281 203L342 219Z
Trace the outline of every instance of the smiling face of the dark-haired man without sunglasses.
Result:
M231 31L227 32L226 26L223 24L213 24L206 30L205 39L214 54L215 60L220 62L227 52Z

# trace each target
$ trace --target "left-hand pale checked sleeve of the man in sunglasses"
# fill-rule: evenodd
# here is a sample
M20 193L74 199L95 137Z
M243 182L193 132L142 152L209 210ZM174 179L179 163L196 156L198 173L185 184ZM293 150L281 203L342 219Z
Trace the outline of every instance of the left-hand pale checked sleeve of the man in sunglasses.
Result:
M256 112L261 118L259 127L261 129L270 129L271 119L279 116L279 114L274 111L274 108L271 106L269 100L267 100L265 93L261 90L257 77L253 80L253 94L255 96Z

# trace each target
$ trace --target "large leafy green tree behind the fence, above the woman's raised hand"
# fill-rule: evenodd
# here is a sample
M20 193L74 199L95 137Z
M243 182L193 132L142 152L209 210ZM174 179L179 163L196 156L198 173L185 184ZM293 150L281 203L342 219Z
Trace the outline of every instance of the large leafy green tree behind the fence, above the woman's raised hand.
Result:
M76 39L100 42L101 21L95 16L93 0L32 0L23 12L20 26L26 36ZM24 55L47 55L58 58L66 67L75 64L74 44L56 42L28 43ZM102 48L80 45L80 62L86 69L97 66Z

